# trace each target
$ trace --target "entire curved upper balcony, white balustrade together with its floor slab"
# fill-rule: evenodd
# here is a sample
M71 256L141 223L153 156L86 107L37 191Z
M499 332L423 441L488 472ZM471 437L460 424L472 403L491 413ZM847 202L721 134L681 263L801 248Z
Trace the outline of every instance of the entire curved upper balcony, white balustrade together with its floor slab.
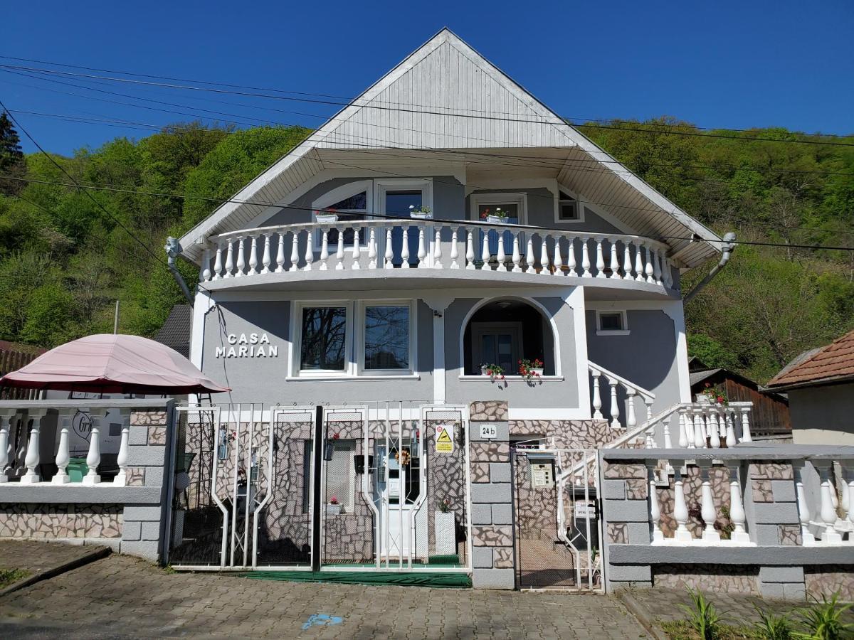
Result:
M346 220L212 236L200 276L208 289L354 288L384 279L401 288L557 284L672 297L668 249L640 236L518 224Z

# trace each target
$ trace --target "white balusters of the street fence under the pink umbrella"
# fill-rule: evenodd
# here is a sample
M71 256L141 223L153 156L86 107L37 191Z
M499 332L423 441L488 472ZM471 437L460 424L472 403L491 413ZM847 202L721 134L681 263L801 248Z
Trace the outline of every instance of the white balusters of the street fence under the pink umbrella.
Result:
M43 427L48 409L29 409L17 411L0 408L0 483L18 482L22 485L63 486L71 483L68 465L71 463L69 441L73 417L81 412L91 427L88 429L88 444L85 456L87 473L82 478L84 486L101 484L99 467L102 458L102 439L104 417L107 409L57 409L56 429L50 430L53 447L44 446ZM130 410L120 411L121 436L116 464L118 474L107 486L125 486L127 481L127 463L129 454ZM52 422L52 421L51 421ZM56 455L43 459L42 451L52 448ZM53 464L51 464L53 463ZM56 465L56 472L53 467ZM46 475L52 477L46 478Z

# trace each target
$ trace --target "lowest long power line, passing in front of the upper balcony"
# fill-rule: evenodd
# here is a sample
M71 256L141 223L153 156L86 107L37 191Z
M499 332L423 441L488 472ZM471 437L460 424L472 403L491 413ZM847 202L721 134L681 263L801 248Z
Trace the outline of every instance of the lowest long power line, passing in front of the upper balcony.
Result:
M50 181L50 180L39 180L39 179L34 179L34 178L33 179L31 179L31 178L11 178L11 179L18 179L21 182L54 184L57 186L67 186L67 187L77 186L75 184L62 183L62 182L56 182L56 181ZM295 207L292 205L282 205L282 204L278 204L278 203L265 202L265 201L245 201L245 200L242 201L242 200L236 200L233 198L214 198L214 197L208 197L208 196L202 196L202 195L193 196L193 195L169 194L169 193L161 193L161 192L154 192L154 191L142 191L142 190L138 190L138 189L125 189L125 188L120 188L120 187L112 187L112 186L108 186L108 185L97 185L96 186L93 184L87 184L86 188L87 189L97 189L97 190L102 190L102 191L113 191L113 192L117 192L117 193L127 193L127 194L133 194L133 195L149 195L149 196L158 196L158 197L180 198L180 199L185 199L185 200L205 200L205 201L216 201L216 202L221 202L221 203L235 202L237 204L257 205L260 207L278 207L280 209L288 209L288 210L301 211L301 212L312 211L312 210L319 211L319 212L335 212L334 209L330 209L328 207L327 208ZM388 213L377 213L377 212L371 212L371 211L366 211L364 213L366 216L368 216L370 218L381 218L381 219L391 219L391 220L409 220L409 219L411 219L407 216L397 216L397 215L392 215L392 214L388 214ZM505 226L505 225L500 225L500 224L495 225L495 224L490 224L490 223L484 223L480 220L460 220L460 221L436 220L434 222L434 224L447 224L447 225L451 225L454 223L457 223L457 224L474 224L474 225L479 225L479 226L484 226L484 227ZM548 232L556 231L556 230L548 228L548 227L539 227L539 226L529 225L529 224L526 224L524 226L525 226L525 228L532 229L532 230L542 230L542 231L548 231ZM578 232L578 236L583 236L583 235L584 235L584 233L582 231ZM679 240L679 241L697 241L698 240L695 237L685 237L685 236L660 236L659 235L659 236L646 236L646 237L649 237L650 240ZM716 239L701 238L700 240L705 241L705 242L709 242L709 243L718 243L718 244L723 244L725 242L719 238L716 238ZM760 246L760 247L784 247L784 248L790 248L790 249L800 248L800 249L816 249L816 250L817 249L826 249L826 250L831 250L831 251L854 251L854 247L832 247L832 246L827 246L827 245L815 245L815 244L808 245L808 244L791 244L791 243L785 243L785 242L742 241L742 240L737 240L737 241L735 241L735 243L736 244L743 244L743 245L755 245L755 246Z

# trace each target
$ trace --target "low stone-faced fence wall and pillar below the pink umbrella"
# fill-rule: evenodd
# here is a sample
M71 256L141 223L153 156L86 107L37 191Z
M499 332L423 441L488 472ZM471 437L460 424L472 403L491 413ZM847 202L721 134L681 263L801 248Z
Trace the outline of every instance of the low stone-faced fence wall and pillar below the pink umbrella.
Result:
M44 403L50 408L50 400ZM132 406L129 403L114 402L123 407ZM121 553L159 560L165 539L173 401L149 400L140 405L143 403L131 411L126 486L113 486L112 482L62 487L5 483L0 491L0 538L105 544ZM79 406L87 405L81 402Z

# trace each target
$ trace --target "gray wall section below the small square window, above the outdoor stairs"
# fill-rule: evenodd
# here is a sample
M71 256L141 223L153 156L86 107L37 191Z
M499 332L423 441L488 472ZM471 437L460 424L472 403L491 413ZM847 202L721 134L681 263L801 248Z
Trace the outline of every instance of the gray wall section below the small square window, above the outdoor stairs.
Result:
M588 358L655 393L655 415L681 401L673 320L664 311L630 309L626 313L629 335L596 335L596 312L585 314ZM624 399L622 392L620 397ZM641 407L635 405L639 421L644 416Z

